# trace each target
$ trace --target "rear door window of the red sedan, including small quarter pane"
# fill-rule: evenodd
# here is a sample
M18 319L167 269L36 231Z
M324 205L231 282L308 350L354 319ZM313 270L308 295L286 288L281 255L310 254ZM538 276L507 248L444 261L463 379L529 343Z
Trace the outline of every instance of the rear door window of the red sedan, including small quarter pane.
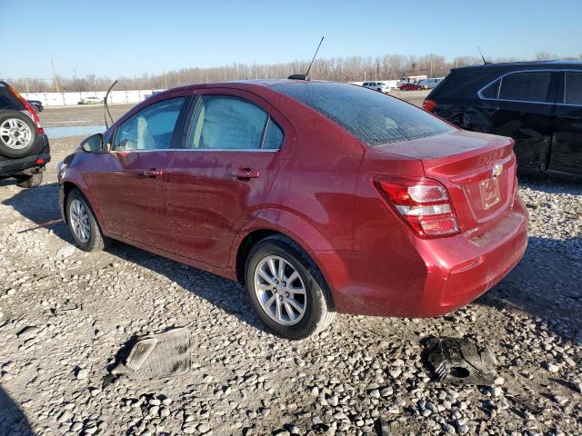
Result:
M192 120L188 147L193 149L278 149L283 142L283 133L269 114L235 96L201 96Z

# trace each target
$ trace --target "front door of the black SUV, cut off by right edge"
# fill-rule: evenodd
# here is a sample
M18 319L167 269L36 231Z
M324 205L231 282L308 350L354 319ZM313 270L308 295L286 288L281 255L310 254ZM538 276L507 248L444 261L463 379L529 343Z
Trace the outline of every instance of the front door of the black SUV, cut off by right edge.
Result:
M556 105L549 169L582 173L582 71L567 71Z

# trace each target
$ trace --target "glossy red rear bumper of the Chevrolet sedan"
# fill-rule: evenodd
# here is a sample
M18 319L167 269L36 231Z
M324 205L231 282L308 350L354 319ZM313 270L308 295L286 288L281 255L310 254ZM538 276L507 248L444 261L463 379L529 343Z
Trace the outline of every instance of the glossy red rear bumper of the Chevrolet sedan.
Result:
M527 248L527 219L517 197L511 213L477 239L421 240L395 232L390 241L370 241L364 252L312 255L338 312L438 316L477 299L517 265Z

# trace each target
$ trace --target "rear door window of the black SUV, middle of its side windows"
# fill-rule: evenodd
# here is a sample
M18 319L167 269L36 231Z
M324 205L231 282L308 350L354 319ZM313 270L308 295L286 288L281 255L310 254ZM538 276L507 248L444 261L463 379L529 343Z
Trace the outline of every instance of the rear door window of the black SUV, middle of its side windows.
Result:
M507 74L501 77L499 100L547 103L551 79L549 71Z

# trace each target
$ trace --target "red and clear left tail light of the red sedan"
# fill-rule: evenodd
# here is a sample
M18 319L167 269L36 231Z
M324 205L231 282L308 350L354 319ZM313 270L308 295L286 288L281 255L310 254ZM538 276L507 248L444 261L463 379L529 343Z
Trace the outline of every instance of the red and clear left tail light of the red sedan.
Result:
M421 237L459 232L447 188L432 179L376 179L376 188Z

